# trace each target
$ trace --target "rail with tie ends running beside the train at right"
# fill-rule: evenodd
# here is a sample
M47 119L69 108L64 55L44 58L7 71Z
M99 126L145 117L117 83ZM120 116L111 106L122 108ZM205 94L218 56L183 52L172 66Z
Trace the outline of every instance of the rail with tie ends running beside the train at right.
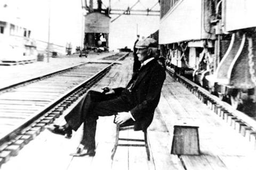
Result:
M247 116L246 114L237 111L229 104L221 101L218 97L210 94L209 91L198 86L196 83L189 79L176 74L170 68L167 72L174 77L177 81L188 88L197 98L206 104L215 114L228 123L234 130L242 134L246 140L249 140L255 148L256 141L256 121L254 117Z

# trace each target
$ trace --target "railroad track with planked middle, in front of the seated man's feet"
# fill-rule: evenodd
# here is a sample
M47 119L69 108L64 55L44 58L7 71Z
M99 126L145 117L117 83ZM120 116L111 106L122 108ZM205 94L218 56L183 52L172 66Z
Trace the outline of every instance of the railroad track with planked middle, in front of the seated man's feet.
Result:
M79 64L0 89L0 166L128 54L117 54L112 63Z

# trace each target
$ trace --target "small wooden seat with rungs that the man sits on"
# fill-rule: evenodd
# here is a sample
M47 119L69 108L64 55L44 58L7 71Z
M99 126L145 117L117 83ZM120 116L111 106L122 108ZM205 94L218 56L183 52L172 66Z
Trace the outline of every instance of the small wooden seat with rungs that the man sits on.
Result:
M125 124L125 123L121 124L121 125L116 124L116 141L115 141L114 148L112 149L111 159L113 160L113 158L115 156L117 146L123 146L123 147L146 147L147 157L148 157L148 160L150 160L150 153L149 153L148 140L147 140L148 139L147 130L143 131L144 139L119 138L120 131L125 131L125 130L130 130L130 129L134 129L133 124ZM145 142L145 144L118 144L119 140Z

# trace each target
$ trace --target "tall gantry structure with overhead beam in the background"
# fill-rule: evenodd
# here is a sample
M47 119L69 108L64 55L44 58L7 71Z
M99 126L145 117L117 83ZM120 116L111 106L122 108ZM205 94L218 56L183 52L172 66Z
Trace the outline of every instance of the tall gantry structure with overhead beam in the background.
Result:
M107 0L105 0L107 1ZM121 0L119 0L121 1ZM109 25L110 22L116 21L122 15L155 15L159 16L160 11L154 10L158 5L159 8L159 0L150 7L146 8L140 2L140 0L134 1L135 3L130 7L128 6L125 9L119 8L111 8L111 0L109 0L109 5L106 6L101 0L81 0L83 12L83 22L84 29L82 32L82 44L83 52L85 50L97 50L98 52L101 50L108 50L108 37L109 37ZM97 5L95 5L97 3ZM143 6L145 9L138 10L138 4ZM94 7L95 6L95 7ZM134 7L137 6L136 9ZM115 18L110 18L110 15L117 15ZM137 32L138 32L138 24L137 24ZM81 54L82 56L82 54Z

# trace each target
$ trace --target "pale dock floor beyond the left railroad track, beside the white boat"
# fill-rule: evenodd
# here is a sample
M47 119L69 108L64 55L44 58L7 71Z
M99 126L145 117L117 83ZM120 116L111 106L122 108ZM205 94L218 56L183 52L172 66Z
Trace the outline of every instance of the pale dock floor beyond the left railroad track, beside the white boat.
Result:
M108 53L90 53L87 58L78 57L75 55L71 56L61 56L52 58L50 57L50 62L47 62L44 58L43 62L35 62L26 65L13 65L13 66L2 66L0 65L0 88L11 86L12 84L19 83L21 81L26 81L35 77L39 77L45 74L49 74L55 71L68 69L71 66L82 64L85 62L94 62L102 57L107 57L114 55L116 52ZM105 61L106 62L106 61Z

